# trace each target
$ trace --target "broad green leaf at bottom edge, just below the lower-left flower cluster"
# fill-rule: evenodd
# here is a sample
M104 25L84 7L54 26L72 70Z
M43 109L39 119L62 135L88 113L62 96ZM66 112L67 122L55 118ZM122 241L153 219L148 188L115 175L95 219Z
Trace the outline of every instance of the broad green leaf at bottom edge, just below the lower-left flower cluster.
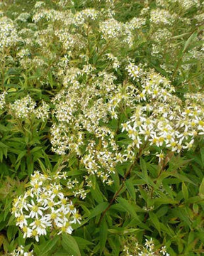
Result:
M62 233L62 247L69 253L69 255L81 256L79 246L72 235Z

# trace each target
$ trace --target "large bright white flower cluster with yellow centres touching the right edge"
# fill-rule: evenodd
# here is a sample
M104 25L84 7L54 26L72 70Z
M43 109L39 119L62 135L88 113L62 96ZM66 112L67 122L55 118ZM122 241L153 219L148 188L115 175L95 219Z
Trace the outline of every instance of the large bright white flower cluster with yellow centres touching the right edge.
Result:
M138 68L132 64L130 67L130 77L138 79ZM141 71L140 74L141 90L135 95L132 93L132 101L138 102L138 105L135 105L130 120L122 124L122 131L128 133L138 148L143 141L148 141L150 145L166 147L178 153L191 149L197 134L203 134L203 105L193 103L197 95L186 95L188 100L183 105L172 94L174 87L166 78L154 71L146 74ZM159 155L160 159L162 157L163 154Z

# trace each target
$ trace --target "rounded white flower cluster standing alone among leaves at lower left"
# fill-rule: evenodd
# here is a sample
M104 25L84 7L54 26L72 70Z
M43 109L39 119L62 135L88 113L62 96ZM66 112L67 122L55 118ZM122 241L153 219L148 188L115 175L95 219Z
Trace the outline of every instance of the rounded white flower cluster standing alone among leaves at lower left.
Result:
M38 242L40 235L52 230L57 234L71 234L72 224L80 223L81 215L63 193L61 182L66 178L65 173L47 176L35 171L30 188L13 201L12 213L16 225L23 231L23 238L35 238Z

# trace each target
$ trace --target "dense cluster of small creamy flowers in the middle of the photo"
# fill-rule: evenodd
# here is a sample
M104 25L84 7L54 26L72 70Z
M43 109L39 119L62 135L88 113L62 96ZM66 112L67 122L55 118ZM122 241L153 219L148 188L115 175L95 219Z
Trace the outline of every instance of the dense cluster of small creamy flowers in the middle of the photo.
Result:
M81 74L83 70L77 73ZM57 154L71 151L79 155L90 176L97 175L111 185L111 174L116 164L126 159L118 151L115 133L100 124L101 120L108 122L111 103L107 104L103 97L109 95L113 98L115 95L115 77L113 74L98 73L90 85L80 84L76 79L77 75L72 72L72 79L70 77L66 82L67 88L53 99L57 124L53 124L51 129L52 149ZM87 133L90 134L88 141Z

